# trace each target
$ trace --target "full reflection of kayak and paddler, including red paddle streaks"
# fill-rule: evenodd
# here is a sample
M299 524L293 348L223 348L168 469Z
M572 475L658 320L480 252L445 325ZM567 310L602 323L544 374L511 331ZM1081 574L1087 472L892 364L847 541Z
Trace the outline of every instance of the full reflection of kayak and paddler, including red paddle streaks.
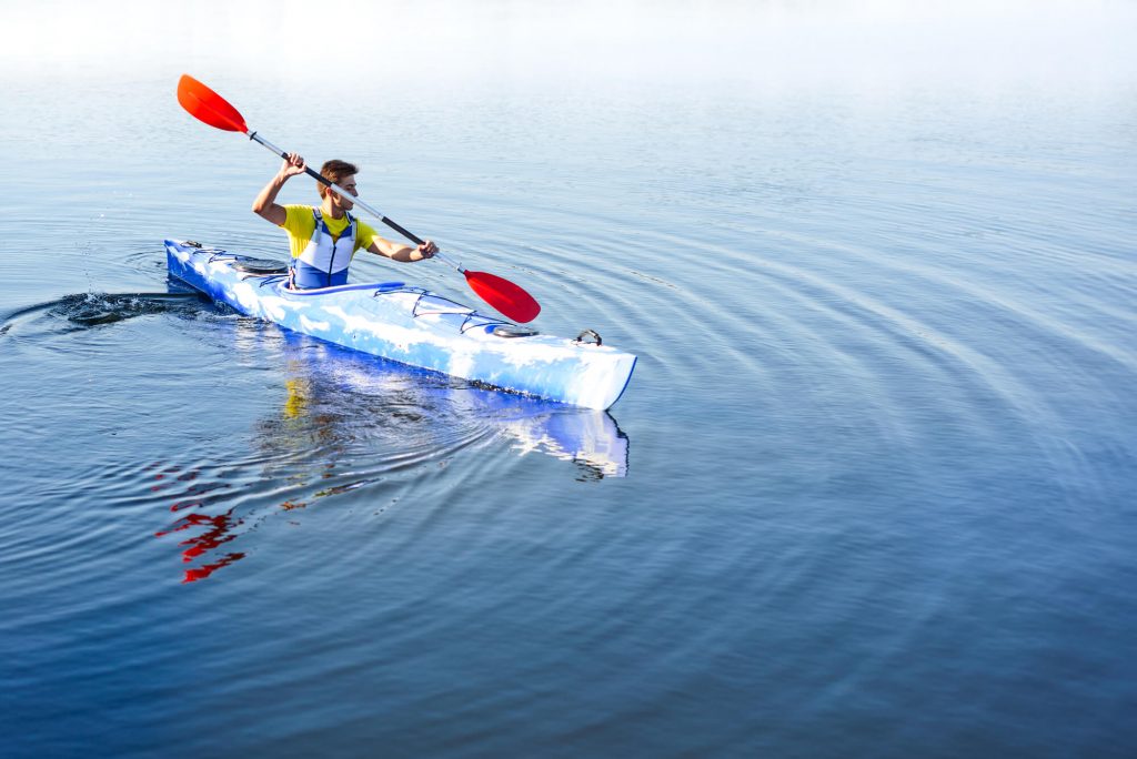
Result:
M251 456L230 461L224 484L194 472L172 507L180 517L158 533L181 539L183 582L249 556L266 518L350 492L382 511L421 498L422 474L459 459L503 477L508 460L532 454L564 461L578 481L628 475L628 436L607 411L473 386L252 319L234 333L238 362L283 367L277 400L250 431Z

